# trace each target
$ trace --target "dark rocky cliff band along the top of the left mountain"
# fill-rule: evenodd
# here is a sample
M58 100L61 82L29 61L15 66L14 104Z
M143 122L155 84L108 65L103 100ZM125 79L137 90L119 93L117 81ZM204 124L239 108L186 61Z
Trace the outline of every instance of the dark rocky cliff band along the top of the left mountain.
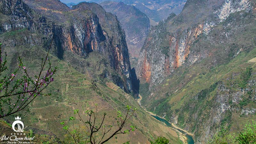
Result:
M1 0L0 32L28 28L29 31L42 34L49 44L54 37L52 52L59 59L75 65L85 73L90 64L84 64L91 52L106 57L114 71L104 70L103 78L115 82L126 92L132 92L131 68L125 34L117 18L98 4L80 3L69 9L59 0ZM76 56L72 57L70 53ZM91 71L92 74L94 71ZM112 74L111 74L112 73ZM114 73L120 76L114 76Z

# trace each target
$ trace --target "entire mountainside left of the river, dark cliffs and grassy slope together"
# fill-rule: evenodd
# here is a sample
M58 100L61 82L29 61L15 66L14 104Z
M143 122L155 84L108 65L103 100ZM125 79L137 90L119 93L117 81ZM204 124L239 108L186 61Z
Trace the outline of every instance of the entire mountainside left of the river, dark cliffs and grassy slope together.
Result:
M54 83L45 91L52 95L37 97L29 106L30 111L20 113L26 130L64 140L67 133L60 122L71 123L68 119L74 116L74 109L83 111L98 103L99 113L107 112L106 123L112 125L116 111L124 112L124 107L131 105L138 108L130 121L136 125L136 131L119 135L109 143L149 143L161 135L173 143L181 142L176 131L149 116L123 91L129 90L129 85L122 81L128 81L130 70L124 33L116 17L101 6L83 3L71 11L57 0L1 0L0 33L10 71L18 66L20 56L31 76L37 73L41 58L46 55L45 49L54 37L49 59L58 70ZM111 82L111 77L116 84ZM5 120L12 123L13 118L9 116ZM2 128L3 124L0 125ZM3 126L7 133L10 132L6 125Z

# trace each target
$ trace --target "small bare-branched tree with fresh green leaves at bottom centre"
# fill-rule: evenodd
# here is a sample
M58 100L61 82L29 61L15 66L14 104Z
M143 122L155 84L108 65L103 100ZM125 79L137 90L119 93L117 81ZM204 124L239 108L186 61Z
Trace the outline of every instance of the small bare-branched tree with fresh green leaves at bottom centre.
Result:
M91 143L91 144L103 144L113 138L115 135L118 134L126 134L131 131L134 131L134 126L130 126L130 129L123 130L124 125L127 123L127 121L133 116L136 108L131 109L130 106L126 106L126 114L122 114L121 111L117 112L117 117L119 120L117 120L118 127L116 130L111 131L113 129L112 125L104 125L104 121L106 120L106 113L103 114L100 123L97 123L97 117L98 117L98 110L97 110L97 104L95 104L96 109L95 110L86 110L86 116L87 119L84 120L79 110L74 110L74 114L77 114L80 120L84 124L84 128L81 128L80 126L77 126L74 124L75 117L70 117L69 120L72 121L73 127L70 128L68 125L66 125L64 122L61 122L60 124L63 125L63 129L65 129L69 136L73 139L73 143L81 144L81 143ZM75 126L75 127L74 127ZM106 138L107 137L107 138Z

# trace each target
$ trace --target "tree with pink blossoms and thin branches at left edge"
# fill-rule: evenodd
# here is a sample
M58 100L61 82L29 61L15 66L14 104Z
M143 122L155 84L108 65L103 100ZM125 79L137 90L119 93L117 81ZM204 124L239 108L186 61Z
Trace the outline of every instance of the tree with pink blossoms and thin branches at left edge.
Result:
M46 57L42 59L39 73L34 78L29 76L28 68L20 57L16 70L9 72L6 66L7 54L6 52L3 54L2 44L0 44L0 118L20 112L37 96L46 95L43 90L53 81L53 75L56 72L56 67L52 69L48 59L52 42ZM46 67L47 63L48 67Z

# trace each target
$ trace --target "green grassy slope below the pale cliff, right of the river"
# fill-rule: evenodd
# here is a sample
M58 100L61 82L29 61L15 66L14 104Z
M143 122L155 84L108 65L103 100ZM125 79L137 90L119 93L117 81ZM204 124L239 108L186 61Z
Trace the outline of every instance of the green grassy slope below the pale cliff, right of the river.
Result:
M233 103L234 96L230 95L226 104L231 106L232 114L230 115L230 111L222 113L220 123L213 124L211 129L224 124L228 125L231 132L237 132L247 120L255 119L256 116L252 114L241 115L244 108L256 108L256 103L252 100L255 92L246 91L255 90L255 85L248 84L255 80L256 72L255 63L248 62L256 56L254 16L255 13L253 16L244 12L233 13L208 36L202 35L190 50L205 49L211 56L191 66L178 68L161 84L153 87L154 92L147 91L148 84L140 85L140 94L144 97L141 103L159 116L165 116L172 122L177 120L178 126L190 132L196 131L196 136L199 137L199 134L204 133L200 131L200 127L209 126L202 123L212 120L212 115L215 114L212 109L220 105L218 97L228 95L220 92L218 87L224 84L231 94L241 92L242 76L246 68L252 68L252 75L245 82L245 91L242 95L239 94L242 100L238 104ZM225 33L228 33L228 38L225 38ZM239 53L240 48L244 51ZM153 96L148 97L151 94ZM234 110L236 108L238 110Z

